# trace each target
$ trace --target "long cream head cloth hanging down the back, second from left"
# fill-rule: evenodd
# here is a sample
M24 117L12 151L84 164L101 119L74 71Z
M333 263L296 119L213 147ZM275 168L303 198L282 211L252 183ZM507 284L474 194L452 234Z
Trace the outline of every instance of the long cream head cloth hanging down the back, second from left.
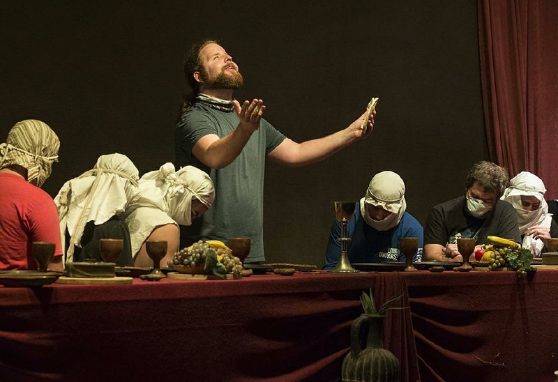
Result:
M62 243L66 228L71 236L66 261L73 261L74 245L80 245L87 222L103 224L139 197L139 174L126 155L114 153L101 155L93 169L64 183L54 203Z

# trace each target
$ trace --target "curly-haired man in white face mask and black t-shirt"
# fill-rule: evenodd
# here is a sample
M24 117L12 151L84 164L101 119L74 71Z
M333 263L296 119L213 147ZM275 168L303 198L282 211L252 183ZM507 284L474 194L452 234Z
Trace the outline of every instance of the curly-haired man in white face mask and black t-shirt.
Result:
M424 230L425 259L462 261L458 238L476 238L475 250L489 244L488 236L520 243L515 208L499 200L508 181L508 171L503 167L476 162L467 174L465 195L438 204L430 211Z

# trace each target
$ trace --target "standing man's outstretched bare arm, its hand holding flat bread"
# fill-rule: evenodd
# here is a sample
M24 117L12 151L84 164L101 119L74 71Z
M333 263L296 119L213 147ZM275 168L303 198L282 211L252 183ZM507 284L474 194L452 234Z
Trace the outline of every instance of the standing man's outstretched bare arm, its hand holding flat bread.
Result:
M349 144L352 144L354 141L368 137L368 134L372 131L376 112L374 111L370 114L365 129L361 130L361 122L365 114L366 113L362 114L347 128L323 138L312 139L301 144L291 139L285 139L269 153L268 157L281 165L292 167L310 165L324 160L340 151L340 149L349 146Z

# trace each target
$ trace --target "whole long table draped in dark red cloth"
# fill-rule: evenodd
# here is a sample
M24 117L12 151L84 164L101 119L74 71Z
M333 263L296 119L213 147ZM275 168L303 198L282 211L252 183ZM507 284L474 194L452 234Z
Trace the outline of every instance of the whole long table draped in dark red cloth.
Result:
M404 380L554 381L557 270L0 287L0 380L335 381L370 287Z

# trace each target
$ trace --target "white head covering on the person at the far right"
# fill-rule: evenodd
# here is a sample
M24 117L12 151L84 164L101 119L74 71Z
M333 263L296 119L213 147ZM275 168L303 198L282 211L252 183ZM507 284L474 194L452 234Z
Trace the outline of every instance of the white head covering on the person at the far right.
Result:
M535 174L529 171L521 171L510 181L510 186L506 188L500 199L508 201L518 213L518 225L520 234L525 235L529 227L541 226L550 230L552 222L552 214L548 213L548 204L545 201L544 194L546 192L545 184ZM521 197L536 197L541 201L541 205L535 211L527 211L523 209ZM533 252L538 257L543 250L543 240L536 239L530 235L523 238L522 247Z

